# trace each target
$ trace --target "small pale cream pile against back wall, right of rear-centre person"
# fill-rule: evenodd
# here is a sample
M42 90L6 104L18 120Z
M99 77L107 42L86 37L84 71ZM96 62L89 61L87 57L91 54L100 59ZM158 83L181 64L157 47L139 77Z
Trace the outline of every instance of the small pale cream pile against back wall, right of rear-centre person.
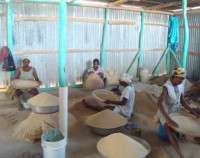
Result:
M106 72L107 85L119 84L119 76L116 72L109 70Z

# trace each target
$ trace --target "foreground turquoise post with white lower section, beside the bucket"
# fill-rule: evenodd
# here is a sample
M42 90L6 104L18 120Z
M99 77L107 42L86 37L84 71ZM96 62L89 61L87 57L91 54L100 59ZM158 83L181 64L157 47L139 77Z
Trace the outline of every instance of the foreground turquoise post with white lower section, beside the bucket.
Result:
M65 73L67 55L67 3L60 0L59 3L59 127L67 140L68 130L68 85Z

